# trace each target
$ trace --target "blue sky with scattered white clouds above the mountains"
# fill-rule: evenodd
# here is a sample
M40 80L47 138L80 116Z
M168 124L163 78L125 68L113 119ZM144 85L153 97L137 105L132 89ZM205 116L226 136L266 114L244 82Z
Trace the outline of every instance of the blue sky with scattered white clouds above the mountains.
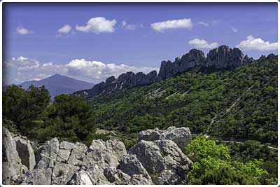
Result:
M3 3L3 83L99 83L221 45L258 59L277 41L276 3Z

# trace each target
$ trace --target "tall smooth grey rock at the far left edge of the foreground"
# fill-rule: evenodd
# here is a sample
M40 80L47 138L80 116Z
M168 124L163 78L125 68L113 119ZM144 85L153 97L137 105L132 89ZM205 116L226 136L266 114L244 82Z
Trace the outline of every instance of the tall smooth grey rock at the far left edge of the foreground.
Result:
M2 136L2 179L3 184L13 184L22 181L27 172L27 167L22 164L22 160L18 155L17 146L15 139L13 139L12 134L2 127L3 136Z

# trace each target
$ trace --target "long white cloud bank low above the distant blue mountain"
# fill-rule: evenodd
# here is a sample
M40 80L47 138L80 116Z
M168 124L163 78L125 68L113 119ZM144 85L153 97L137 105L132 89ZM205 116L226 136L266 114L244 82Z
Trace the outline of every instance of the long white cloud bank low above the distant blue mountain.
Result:
M153 70L159 70L155 67L134 67L125 64L103 63L99 61L90 61L85 59L71 60L67 64L54 64L52 62L41 64L38 60L28 57L12 58L4 62L6 70L13 68L16 78L8 77L10 83L22 83L30 80L39 80L53 74L62 74L72 78L91 83L100 83L109 76L116 78L127 71L149 73Z

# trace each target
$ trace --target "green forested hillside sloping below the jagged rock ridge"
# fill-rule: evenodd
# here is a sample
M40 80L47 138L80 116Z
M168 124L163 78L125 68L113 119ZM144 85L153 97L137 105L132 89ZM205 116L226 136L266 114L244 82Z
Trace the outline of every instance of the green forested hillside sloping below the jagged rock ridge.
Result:
M172 125L193 134L277 143L277 57L229 70L192 69L90 99L97 127L134 133Z

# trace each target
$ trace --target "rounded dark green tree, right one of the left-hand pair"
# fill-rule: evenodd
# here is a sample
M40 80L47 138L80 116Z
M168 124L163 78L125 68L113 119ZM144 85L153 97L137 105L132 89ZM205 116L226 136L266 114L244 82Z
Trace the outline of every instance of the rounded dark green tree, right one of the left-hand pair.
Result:
M36 137L40 140L59 137L73 142L90 141L92 133L95 132L92 113L90 105L83 99L59 95L55 97L55 102L41 113L37 121Z

